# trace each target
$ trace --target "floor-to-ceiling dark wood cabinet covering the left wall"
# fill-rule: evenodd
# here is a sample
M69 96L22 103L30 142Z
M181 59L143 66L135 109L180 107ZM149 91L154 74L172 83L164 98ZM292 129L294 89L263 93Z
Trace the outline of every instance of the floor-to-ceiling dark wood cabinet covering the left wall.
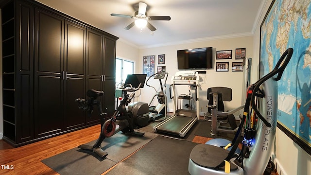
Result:
M21 146L99 123L74 102L89 88L108 92L100 100L112 114L118 37L35 0L0 7L3 140Z

